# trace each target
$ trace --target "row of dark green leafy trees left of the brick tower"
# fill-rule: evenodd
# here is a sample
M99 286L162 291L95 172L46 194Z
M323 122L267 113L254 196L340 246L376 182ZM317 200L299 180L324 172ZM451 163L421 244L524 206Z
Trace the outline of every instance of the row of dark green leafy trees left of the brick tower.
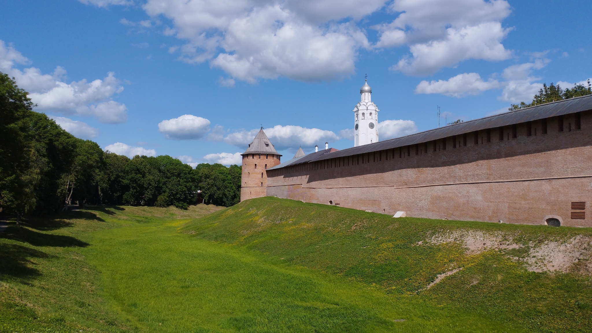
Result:
M0 73L0 212L21 216L72 203L186 209L202 193L201 201L216 205L240 201L240 166L194 170L167 155L129 159L74 137L33 107L27 92Z

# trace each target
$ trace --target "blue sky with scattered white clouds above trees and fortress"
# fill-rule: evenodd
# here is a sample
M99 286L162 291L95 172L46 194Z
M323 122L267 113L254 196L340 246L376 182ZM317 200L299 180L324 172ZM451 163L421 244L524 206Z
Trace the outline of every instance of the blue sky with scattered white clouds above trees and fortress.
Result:
M590 1L63 0L0 4L0 71L67 131L132 156L240 163L262 125L353 146L368 75L381 140L592 76ZM440 124L445 124L444 116Z

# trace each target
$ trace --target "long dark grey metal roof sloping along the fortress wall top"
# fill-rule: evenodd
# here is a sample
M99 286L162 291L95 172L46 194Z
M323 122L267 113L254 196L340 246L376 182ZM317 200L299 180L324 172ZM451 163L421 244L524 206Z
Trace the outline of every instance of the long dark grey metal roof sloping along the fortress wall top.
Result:
M452 135L460 135L474 131L487 130L488 128L520 124L522 122L535 121L538 119L573 114L575 112L588 110L592 110L592 95L530 106L529 108L510 111L503 114L491 115L480 119L461 122L459 124L434 128L433 130L423 131L416 134L407 135L405 137L379 141L377 143L365 144L358 147L346 148L344 150L334 151L333 153L329 153L329 151L326 150L320 150L317 153L308 154L307 156L301 157L300 159L292 161L291 163L279 164L278 166L272 167L268 170L279 169L281 167L305 162L334 159L336 157L352 156L356 154L371 153L373 151L410 146L413 144L426 143L433 140L452 137Z

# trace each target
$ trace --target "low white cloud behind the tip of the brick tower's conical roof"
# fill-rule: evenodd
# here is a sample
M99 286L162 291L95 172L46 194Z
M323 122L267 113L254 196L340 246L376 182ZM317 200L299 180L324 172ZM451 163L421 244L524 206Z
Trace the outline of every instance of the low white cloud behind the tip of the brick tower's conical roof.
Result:
M318 128L305 128L294 125L275 125L266 128L265 134L274 144L276 150L296 148L303 146L305 148L314 147L315 144L321 146L326 141L332 142L339 140L339 136L332 131L319 130ZM246 148L247 144L253 141L259 129L250 131L233 132L222 140L236 147Z

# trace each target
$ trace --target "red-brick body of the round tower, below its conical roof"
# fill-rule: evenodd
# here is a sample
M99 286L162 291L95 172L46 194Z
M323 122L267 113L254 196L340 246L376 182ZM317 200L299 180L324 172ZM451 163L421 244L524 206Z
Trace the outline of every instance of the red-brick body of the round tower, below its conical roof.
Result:
M267 186L266 169L280 163L276 154L243 155L240 201L265 196Z

